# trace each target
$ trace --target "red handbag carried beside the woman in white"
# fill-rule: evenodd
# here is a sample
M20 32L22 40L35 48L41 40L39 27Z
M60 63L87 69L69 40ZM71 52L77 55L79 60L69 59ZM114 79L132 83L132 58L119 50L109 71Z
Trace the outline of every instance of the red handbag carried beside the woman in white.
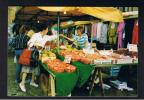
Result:
M20 55L19 64L30 65L32 50L24 49Z

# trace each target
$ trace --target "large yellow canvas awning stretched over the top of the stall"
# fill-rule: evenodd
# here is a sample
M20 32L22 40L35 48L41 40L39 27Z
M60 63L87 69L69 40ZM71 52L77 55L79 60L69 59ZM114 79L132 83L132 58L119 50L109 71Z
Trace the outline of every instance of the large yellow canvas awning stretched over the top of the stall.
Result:
M68 12L74 15L87 14L103 21L122 22L122 12L114 7L38 7L52 12Z

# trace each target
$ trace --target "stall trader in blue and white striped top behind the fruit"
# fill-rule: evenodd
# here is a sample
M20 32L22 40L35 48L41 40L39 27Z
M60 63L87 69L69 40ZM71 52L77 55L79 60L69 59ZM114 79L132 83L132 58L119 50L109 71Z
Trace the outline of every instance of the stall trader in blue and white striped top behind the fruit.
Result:
M74 44L78 49L83 49L88 44L88 36L86 33L83 33L83 27L79 26L76 28L77 34L74 36Z

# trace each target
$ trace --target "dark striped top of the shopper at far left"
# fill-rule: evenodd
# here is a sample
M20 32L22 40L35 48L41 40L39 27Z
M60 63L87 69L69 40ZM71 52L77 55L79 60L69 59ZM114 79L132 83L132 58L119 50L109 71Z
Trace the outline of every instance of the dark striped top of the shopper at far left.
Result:
M27 35L19 34L12 40L10 46L14 49L24 49L27 47L27 42L29 41L29 39L30 37L28 37Z

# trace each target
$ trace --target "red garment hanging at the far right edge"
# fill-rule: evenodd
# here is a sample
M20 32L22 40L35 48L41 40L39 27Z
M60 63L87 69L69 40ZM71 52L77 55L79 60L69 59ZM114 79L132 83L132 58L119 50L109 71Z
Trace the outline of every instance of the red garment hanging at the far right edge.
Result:
M134 24L132 44L138 44L138 20L136 20Z

